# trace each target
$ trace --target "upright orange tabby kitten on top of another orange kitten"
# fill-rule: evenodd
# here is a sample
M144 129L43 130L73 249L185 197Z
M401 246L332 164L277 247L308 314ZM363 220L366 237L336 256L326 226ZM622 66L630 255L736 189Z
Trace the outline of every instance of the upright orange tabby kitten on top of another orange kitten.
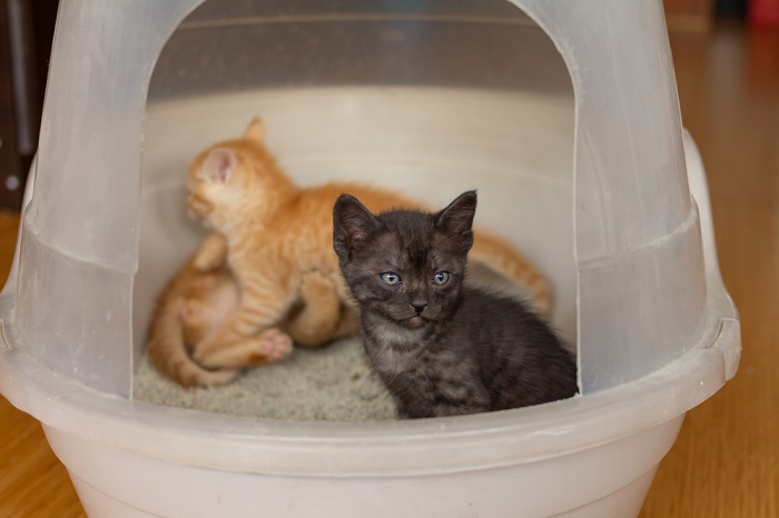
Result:
M224 236L227 263L240 290L237 307L224 326L205 333L194 346L193 358L214 377L234 377L235 369L286 355L286 350L279 353L280 347L268 347L265 330L289 320L302 302L306 276L313 271L333 286L345 309L341 321L347 323L338 330L356 332L357 308L332 247L333 206L341 193L358 197L374 212L421 208L397 193L354 183L298 188L278 168L264 138L262 121L254 119L243 138L201 152L187 179L187 208ZM524 286L535 310L546 315L545 279L505 241L479 231L470 258ZM307 301L306 307L315 303ZM321 341L333 336L325 333Z

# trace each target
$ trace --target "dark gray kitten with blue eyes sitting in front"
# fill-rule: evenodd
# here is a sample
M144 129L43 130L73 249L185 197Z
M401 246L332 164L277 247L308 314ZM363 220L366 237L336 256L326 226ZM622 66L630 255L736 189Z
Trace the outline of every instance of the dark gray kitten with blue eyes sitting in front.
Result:
M402 418L524 407L576 394L576 365L522 302L466 287L476 192L437 213L371 213L342 195L333 246L368 361Z

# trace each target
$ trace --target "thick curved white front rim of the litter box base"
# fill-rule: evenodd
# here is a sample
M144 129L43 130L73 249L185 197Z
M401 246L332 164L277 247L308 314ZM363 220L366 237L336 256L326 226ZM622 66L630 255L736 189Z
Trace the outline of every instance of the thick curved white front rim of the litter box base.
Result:
M721 328L719 341L738 337L730 327ZM586 397L479 416L342 424L131 401L55 373L24 349L0 353L0 392L14 406L75 437L210 469L336 477L455 472L561 457L683 415L726 381L720 348L700 347L653 375Z

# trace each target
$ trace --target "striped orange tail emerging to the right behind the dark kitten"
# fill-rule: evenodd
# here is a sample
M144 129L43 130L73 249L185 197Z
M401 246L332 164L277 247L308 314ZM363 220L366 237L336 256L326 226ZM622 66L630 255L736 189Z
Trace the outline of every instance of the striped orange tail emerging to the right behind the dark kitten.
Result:
M544 319L549 317L552 298L549 282L514 247L497 236L476 230L470 257L517 282L532 299L535 313Z

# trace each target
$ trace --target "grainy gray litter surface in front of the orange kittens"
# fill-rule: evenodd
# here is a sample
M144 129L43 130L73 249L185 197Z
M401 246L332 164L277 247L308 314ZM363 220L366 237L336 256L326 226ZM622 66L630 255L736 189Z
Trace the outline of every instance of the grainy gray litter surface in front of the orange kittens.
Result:
M371 372L358 339L318 349L295 348L284 360L246 370L221 387L185 389L145 357L134 382L137 400L208 412L296 421L395 419L395 406Z

